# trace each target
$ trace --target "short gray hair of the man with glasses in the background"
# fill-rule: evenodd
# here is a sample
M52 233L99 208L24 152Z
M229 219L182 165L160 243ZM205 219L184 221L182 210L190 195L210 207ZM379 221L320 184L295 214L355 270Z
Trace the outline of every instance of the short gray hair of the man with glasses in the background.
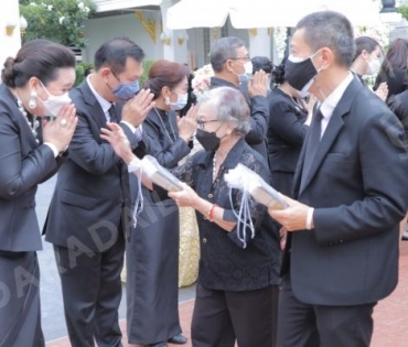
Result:
M211 65L214 72L219 73L227 59L235 58L237 50L245 46L245 42L234 36L217 40L211 48Z

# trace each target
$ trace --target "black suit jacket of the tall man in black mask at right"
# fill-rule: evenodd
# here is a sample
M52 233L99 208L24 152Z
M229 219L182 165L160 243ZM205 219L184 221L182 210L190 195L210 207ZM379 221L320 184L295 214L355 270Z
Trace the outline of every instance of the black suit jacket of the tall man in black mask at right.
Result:
M408 202L408 153L401 139L399 120L354 78L300 191L303 145L294 196L315 209L314 229L290 232L288 241L292 290L300 301L358 305L395 289L398 224Z

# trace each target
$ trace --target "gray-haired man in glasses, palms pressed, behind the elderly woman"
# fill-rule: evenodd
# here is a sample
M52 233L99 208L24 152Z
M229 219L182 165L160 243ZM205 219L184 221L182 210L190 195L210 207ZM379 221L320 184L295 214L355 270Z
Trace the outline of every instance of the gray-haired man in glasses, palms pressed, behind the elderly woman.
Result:
M265 160L267 155L267 130L269 122L269 106L266 99L268 77L265 72L253 75L253 63L244 41L237 37L222 37L211 50L211 65L214 76L210 88L232 87L240 89L250 108L250 131L245 137L247 143Z

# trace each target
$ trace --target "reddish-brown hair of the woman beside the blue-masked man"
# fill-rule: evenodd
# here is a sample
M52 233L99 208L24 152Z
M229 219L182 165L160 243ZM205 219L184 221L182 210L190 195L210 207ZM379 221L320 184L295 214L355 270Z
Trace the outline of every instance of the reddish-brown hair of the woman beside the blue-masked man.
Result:
M189 75L189 66L165 59L157 61L150 67L149 79L144 87L150 88L155 99L160 95L161 88L167 86L172 89Z

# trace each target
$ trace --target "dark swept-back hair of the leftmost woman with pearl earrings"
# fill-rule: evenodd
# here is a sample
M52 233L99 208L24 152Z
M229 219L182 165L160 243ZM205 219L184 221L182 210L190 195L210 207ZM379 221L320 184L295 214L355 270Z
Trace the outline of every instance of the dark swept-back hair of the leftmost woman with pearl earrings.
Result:
M1 72L1 80L8 87L23 87L31 77L39 78L45 86L58 77L58 69L75 68L73 51L58 43L40 39L25 43L15 58L8 57Z

